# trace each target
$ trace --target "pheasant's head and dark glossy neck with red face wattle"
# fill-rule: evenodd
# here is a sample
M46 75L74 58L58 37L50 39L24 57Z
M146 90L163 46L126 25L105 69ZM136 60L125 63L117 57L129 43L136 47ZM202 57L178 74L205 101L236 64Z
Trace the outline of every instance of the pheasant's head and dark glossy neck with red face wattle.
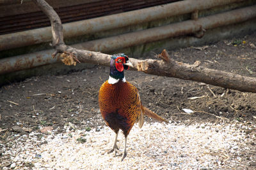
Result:
M127 55L124 55L124 53L112 55L110 61L110 77L114 78L117 82L120 79L124 79L124 69L129 69L129 66L132 67L132 63L129 62Z

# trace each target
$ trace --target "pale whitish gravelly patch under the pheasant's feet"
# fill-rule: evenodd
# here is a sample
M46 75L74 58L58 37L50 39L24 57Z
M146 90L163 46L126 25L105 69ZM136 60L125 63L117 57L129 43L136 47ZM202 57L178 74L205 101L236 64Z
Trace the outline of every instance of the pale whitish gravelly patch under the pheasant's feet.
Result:
M70 124L63 133L54 129L51 134L10 136L16 140L4 155L12 155L13 169L246 169L245 159L256 162L256 156L246 157L256 140L255 127L222 120L193 125L146 122L141 129L132 128L121 162L115 153L106 153L115 138L109 127L79 130ZM119 154L123 134L118 139Z

